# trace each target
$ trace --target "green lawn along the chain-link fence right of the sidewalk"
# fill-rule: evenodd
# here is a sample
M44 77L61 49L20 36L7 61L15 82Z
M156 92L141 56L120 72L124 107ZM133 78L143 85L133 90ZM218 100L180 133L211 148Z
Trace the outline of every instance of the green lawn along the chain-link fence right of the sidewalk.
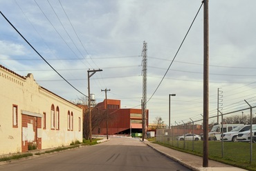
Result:
M172 143L165 144L156 141L152 143L158 143L164 145L167 148L179 150L181 152L187 152L197 156L203 156L203 141L194 141L194 150L192 150L192 141L175 141ZM221 153L221 141L209 141L208 142L208 158L228 165L233 165L238 168L244 168L246 170L256 171L256 144L253 144L253 160L250 163L250 143L234 143L224 142L223 157Z

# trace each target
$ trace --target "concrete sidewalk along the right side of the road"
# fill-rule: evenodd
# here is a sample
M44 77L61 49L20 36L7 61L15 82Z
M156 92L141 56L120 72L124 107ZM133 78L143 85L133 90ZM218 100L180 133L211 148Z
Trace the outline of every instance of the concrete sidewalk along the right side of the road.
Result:
M147 140L144 141L149 147L153 148L154 150L160 152L161 154L165 155L166 157L169 157L170 159L173 159L174 161L177 161L181 163L182 165L185 165L185 167L190 168L191 170L232 170L232 171L242 171L244 169L236 168L232 165L226 165L224 163L220 163L217 161L209 160L208 168L203 168L203 158L188 154L185 152L180 152L178 150L173 150L172 148L167 148L163 145L159 145L157 143L151 143Z

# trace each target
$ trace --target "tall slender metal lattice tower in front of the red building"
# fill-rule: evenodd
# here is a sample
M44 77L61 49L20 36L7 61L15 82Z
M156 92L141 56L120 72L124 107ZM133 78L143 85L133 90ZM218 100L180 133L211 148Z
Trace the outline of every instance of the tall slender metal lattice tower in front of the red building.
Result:
M143 41L143 101L142 101L142 109L143 109L143 140L146 134L146 109L147 109L147 43Z

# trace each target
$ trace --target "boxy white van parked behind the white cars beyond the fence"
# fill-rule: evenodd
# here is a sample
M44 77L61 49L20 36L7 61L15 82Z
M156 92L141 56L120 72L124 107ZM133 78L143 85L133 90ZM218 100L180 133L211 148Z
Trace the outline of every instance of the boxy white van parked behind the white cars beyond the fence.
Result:
M230 132L232 129L237 128L239 125L244 124L223 124L223 133ZM222 125L214 125L212 130L208 133L209 140L220 140L221 139L221 132L222 132Z

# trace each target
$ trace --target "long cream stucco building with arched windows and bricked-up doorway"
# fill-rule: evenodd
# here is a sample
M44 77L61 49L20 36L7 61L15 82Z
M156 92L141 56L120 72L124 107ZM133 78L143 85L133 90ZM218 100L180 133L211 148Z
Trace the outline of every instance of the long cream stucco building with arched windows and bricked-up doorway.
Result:
M82 141L82 108L0 65L0 154Z

